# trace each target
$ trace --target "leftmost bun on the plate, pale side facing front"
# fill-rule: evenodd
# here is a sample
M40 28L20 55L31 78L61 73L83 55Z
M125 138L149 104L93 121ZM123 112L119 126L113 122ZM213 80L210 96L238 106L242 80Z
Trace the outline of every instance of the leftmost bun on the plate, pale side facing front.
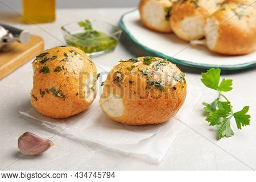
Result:
M170 11L175 0L141 0L139 13L147 28L159 32L172 32L169 23Z

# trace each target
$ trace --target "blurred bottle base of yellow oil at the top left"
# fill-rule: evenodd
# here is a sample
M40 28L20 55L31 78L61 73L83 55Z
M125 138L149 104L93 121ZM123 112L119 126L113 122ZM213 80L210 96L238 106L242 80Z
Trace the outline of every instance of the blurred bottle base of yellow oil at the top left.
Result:
M22 0L24 23L47 23L55 20L55 0Z

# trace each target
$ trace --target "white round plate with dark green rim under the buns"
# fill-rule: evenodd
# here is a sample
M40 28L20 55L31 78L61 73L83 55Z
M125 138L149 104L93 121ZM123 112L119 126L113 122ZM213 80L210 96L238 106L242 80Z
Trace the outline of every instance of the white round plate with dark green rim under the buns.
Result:
M225 56L210 52L204 46L189 45L174 34L148 30L141 23L139 11L122 15L119 26L139 47L173 63L197 68L242 69L256 65L256 51L242 56Z

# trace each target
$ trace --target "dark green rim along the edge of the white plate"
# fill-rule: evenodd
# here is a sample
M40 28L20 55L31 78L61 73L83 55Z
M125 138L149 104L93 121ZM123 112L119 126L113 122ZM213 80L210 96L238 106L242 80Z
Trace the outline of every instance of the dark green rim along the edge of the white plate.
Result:
M223 66L223 65L211 65L211 64L199 64L199 63L193 63L191 61L185 61L185 60L179 60L176 59L174 57L170 57L167 55L164 55L161 52L155 51L154 49L148 48L144 45L142 45L141 43L138 42L137 39L134 38L134 36L130 33L129 30L127 30L127 28L125 27L125 24L123 23L123 18L125 15L133 13L133 11L137 11L138 9L134 9L131 11L126 12L125 14L123 14L121 16L121 18L119 19L119 27L123 30L123 32L125 32L125 34L127 36L129 36L129 38L135 43L137 44L137 46L139 46L140 48L144 49L145 51L151 52L156 56L159 57L164 57L168 60L171 60L173 63L177 63L177 64L181 64L181 65L185 65L185 66L189 66L189 67L196 67L196 68L203 68L203 69L209 69L209 68L221 68L221 69L225 69L225 70L236 70L236 69L245 69L245 68L250 68L256 65L256 60L251 62L251 63L243 63L243 64L237 64L237 65L232 65L231 67L228 66Z

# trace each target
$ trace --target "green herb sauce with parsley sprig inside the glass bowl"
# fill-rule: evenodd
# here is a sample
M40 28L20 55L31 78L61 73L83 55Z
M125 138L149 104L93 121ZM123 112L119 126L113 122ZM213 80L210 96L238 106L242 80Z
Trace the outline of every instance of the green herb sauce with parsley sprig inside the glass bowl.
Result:
M110 52L113 51L118 43L118 39L114 36L93 30L89 20L79 22L79 26L84 27L85 31L72 34L71 37L65 37L65 41L69 46L77 47L85 53Z

